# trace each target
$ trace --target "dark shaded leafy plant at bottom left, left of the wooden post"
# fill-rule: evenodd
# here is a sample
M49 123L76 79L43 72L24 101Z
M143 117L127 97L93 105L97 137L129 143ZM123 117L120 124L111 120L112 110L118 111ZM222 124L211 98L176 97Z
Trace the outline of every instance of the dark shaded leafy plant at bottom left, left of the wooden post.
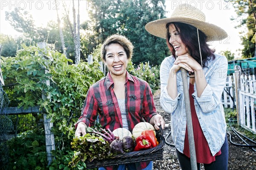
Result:
M18 137L10 139L9 167L10 169L47 170L47 153L43 129L26 131Z

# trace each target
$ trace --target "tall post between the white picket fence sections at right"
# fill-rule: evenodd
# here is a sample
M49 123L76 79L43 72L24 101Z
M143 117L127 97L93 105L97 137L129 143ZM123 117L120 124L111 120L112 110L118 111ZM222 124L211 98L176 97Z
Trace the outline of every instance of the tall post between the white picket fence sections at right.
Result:
M235 81L235 94L236 94L236 118L237 118L237 123L239 125L241 125L240 115L239 115L240 75L241 75L241 67L239 65L235 65L234 81Z

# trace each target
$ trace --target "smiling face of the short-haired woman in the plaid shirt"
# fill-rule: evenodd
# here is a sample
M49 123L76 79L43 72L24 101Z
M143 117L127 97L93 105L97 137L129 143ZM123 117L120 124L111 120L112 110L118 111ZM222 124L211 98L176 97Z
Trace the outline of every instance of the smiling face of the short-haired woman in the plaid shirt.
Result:
M106 48L106 66L111 73L111 76L122 76L125 78L125 69L127 67L128 59L125 49L118 43L112 43Z

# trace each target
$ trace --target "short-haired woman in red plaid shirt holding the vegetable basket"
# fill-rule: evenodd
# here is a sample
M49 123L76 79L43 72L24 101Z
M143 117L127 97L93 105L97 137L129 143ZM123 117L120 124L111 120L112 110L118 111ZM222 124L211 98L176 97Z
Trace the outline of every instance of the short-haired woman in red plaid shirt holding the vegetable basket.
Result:
M88 90L81 117L76 123L76 136L84 135L85 128L93 126L98 116L102 127L111 131L122 127L132 132L134 126L143 121L152 124L156 130L160 125L165 127L162 116L156 112L148 83L126 70L133 47L122 35L111 35L102 44L101 57L109 72ZM152 161L147 161L99 170L152 170L152 167Z

